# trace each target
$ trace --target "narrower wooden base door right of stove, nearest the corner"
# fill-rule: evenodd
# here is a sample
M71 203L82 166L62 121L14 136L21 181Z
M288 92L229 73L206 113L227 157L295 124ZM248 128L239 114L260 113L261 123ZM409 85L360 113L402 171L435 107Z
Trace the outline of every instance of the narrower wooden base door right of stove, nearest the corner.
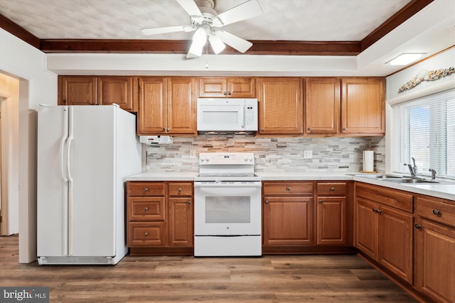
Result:
M318 197L317 244L346 244L346 197Z

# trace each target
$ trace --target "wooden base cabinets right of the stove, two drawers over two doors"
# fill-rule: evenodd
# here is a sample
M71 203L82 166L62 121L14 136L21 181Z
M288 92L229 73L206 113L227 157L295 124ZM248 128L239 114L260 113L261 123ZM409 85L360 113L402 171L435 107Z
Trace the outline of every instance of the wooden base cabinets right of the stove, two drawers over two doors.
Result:
M352 188L353 182L264 181L263 253L352 252Z

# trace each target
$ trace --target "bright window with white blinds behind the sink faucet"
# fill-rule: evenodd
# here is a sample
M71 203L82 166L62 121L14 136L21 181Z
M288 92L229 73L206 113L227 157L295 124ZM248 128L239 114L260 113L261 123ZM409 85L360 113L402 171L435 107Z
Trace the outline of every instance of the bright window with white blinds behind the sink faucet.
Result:
M455 89L407 101L392 107L392 170L409 174L407 164L418 167L418 175L455 179Z

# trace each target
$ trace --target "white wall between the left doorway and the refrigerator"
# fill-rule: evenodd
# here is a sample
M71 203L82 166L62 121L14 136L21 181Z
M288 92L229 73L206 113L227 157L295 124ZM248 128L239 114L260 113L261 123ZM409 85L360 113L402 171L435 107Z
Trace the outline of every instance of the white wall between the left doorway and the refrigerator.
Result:
M36 109L57 104L57 75L40 50L0 28L0 71L19 78L19 262L36 260Z

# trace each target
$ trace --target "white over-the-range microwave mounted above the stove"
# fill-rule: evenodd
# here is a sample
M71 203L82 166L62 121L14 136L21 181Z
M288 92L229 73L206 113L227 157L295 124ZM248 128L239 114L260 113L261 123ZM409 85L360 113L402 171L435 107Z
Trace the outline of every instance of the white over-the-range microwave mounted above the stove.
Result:
M257 99L199 98L198 131L257 131Z

